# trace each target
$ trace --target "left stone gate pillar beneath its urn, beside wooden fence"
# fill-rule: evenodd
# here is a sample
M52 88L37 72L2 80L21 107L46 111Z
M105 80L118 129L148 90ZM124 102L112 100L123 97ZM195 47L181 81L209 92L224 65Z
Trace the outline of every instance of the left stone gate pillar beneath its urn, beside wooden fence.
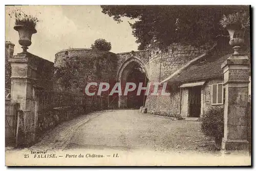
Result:
M20 110L23 111L23 117L20 122L19 145L30 145L36 139L36 124L37 124L37 113L35 101L33 101L33 81L32 75L35 75L35 70L31 66L30 53L19 53L9 59L12 68L11 74L11 98L12 100L20 103Z

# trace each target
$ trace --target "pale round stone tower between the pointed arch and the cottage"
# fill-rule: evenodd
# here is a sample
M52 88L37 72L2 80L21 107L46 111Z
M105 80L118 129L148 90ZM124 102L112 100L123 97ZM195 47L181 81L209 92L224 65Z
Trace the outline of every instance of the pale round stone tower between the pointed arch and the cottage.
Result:
M210 46L195 47L174 43L166 50L151 50L148 62L148 79L161 82L185 63L202 55ZM178 115L180 111L180 91L177 85L172 85L170 97L147 96L145 107L150 113L160 112L163 115Z

